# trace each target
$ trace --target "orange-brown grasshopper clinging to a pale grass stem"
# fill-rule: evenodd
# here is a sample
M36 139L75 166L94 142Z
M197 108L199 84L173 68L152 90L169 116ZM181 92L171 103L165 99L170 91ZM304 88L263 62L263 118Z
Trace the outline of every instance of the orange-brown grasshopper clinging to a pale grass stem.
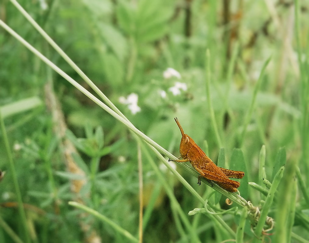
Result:
M205 177L208 180L213 180L220 187L229 192L236 192L240 185L238 181L230 180L229 178L243 178L244 172L229 170L226 168L218 167L212 162L212 160L204 153L204 151L197 146L197 144L190 138L187 134L184 133L184 130L180 126L180 123L176 118L174 118L182 135L180 141L179 152L182 160L171 160L175 162L188 162L190 161L194 169L201 174L202 177ZM200 176L198 177L198 184L201 185Z

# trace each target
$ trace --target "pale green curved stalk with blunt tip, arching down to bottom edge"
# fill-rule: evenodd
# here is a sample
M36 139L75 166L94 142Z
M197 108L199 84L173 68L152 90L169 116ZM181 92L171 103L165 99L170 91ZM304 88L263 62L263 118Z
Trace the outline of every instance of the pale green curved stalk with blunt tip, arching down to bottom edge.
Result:
M92 214L93 216L95 216L96 218L98 218L99 220L101 220L104 223L107 223L108 225L110 225L116 232L120 233L121 235L125 236L127 239L129 239L132 242L136 242L138 243L138 239L135 238L131 233L129 233L129 231L121 228L119 225L117 225L115 222L111 221L108 217L104 216L103 214L100 214L99 212L95 211L94 209L91 209L85 205L82 205L80 203L77 202L69 202L69 205L78 208L78 209L82 209L83 211Z

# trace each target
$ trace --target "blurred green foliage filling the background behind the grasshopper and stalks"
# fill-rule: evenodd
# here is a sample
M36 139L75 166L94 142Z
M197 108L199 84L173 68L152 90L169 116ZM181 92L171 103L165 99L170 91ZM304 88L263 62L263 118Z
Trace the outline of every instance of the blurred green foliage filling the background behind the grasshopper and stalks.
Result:
M263 144L266 148L263 168L270 182L286 160L298 165L297 178L302 186L298 188L296 183L291 184L294 192L295 188L297 191L291 199L296 200L294 211L286 205L280 207L283 214L296 212L295 223L282 227L289 227L295 235L308 239L309 202L303 196L309 183L306 179L309 178L306 152L309 144L306 98L309 97L306 69L308 2L300 3L296 23L293 2L282 4L278 1L274 8L261 1L227 2L19 1L136 128L178 157L180 132L173 120L177 116L185 132L204 150L202 144L207 141L208 156L215 163L221 151L219 163L243 170L245 177L239 180L239 191L246 200L257 205L260 199L266 198L247 182L263 186L266 192L269 190L259 180L259 156ZM1 2L0 8L0 18L4 22L90 90L10 1ZM294 28L297 24L301 31L298 43L297 28ZM85 242L91 237L82 230L83 225L90 226L102 242L127 240L113 227L92 216L80 218L82 211L67 204L77 197L137 237L137 148L131 133L62 77L51 72L3 29L0 29L0 47L0 111L12 148L23 203L34 206L25 207L31 229L28 242ZM206 103L206 48L210 50L211 59L210 98L224 150L218 146ZM235 48L238 49L233 61ZM297 51L302 55L301 64L296 58ZM252 117L240 143L256 82L270 56L271 61L257 90ZM163 73L169 67L178 71L181 77L165 76ZM54 132L55 125L45 100L44 87L50 80L53 80L53 89L69 129L66 136L78 150L79 154L73 153L73 158L83 171L82 176L66 171L63 150L59 147L61 141ZM175 95L172 90L179 94ZM128 101L132 93L138 100ZM42 105L44 103L46 106ZM138 106L140 111L133 114L130 104L135 111ZM0 182L0 242L16 242L1 223L5 221L16 235L26 239L17 210L7 204L17 199L2 133L0 170L6 171L6 175ZM159 163L156 158L155 161ZM185 214L204 206L192 199L190 192L163 166L159 168L165 173ZM180 167L177 169L203 198L212 192L209 187L196 185L196 178ZM87 183L76 195L72 192L71 180L79 179ZM187 230L175 213L175 205L162 189L162 181L144 156L143 181L144 209L148 213L143 225L144 242L193 242L190 241L192 234L196 234L201 242L231 238L222 225L207 214L188 216L192 228ZM283 182L284 185L287 183ZM276 198L284 198L284 193L284 188L279 185L270 217L279 215L276 208L281 202ZM216 195L216 201L218 196L221 194ZM220 200L217 207L227 209L224 200ZM40 209L44 210L43 215ZM235 229L239 221L243 225L246 220L243 214L241 218L239 215L229 214L223 219ZM294 222L294 214L287 217ZM246 241L255 239L249 226L247 220ZM297 242L295 235L290 242ZM277 238L267 237L276 242Z

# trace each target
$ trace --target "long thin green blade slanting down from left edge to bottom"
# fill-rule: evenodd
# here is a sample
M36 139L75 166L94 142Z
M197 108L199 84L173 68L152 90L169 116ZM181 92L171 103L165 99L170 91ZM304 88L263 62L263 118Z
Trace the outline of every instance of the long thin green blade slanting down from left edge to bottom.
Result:
M29 229L28 229L27 217L26 217L26 213L25 213L25 210L24 210L24 207L23 207L23 200L22 200L22 196L21 196L21 192L20 192L20 188L19 188L19 184L18 184L15 164L14 164L14 161L13 161L13 155L12 155L12 152L11 152L9 139L7 137L7 134L6 134L5 124L4 124L4 120L2 118L1 110L0 110L0 128L1 128L3 142L4 142L5 149L6 149L7 157L8 157L8 163L9 163L9 166L10 166L10 173L12 175L13 185L14 185L15 193L16 193L16 197L17 197L18 213L19 213L19 217L21 219L21 225L22 225L22 228L23 228L23 231L24 231L23 233L24 233L24 236L25 236L25 241L27 243L30 243L30 235L29 235L29 231L28 231Z

